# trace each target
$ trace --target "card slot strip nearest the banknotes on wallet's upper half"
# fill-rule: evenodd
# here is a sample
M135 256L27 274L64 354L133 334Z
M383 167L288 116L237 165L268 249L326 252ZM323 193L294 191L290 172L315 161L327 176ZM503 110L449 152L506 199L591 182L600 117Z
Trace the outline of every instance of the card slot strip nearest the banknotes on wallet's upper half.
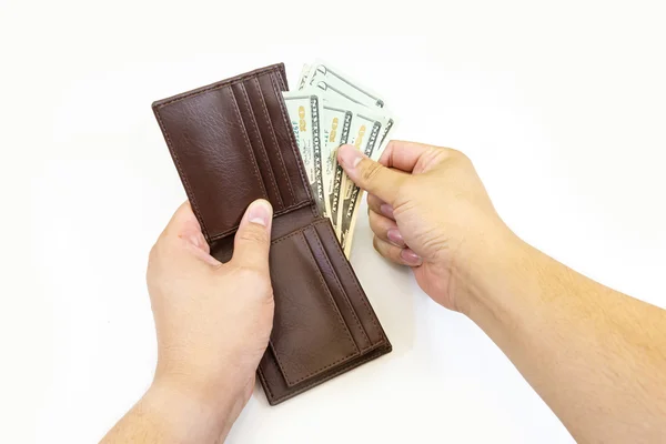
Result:
M273 132L280 147L290 147L289 150L280 150L286 173L292 184L292 191L296 202L312 201L310 195L310 182L305 176L305 167L297 152L296 138L287 119L286 108L282 92L278 87L275 78L271 73L256 77L261 89L270 120L273 122ZM314 210L313 210L314 211Z

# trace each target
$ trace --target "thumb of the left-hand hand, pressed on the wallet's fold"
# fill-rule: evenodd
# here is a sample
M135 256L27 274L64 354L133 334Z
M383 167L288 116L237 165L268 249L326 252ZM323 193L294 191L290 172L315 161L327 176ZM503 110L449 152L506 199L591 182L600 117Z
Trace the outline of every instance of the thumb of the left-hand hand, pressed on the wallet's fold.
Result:
M273 209L259 199L248 206L233 244L231 263L236 266L269 272L269 249Z

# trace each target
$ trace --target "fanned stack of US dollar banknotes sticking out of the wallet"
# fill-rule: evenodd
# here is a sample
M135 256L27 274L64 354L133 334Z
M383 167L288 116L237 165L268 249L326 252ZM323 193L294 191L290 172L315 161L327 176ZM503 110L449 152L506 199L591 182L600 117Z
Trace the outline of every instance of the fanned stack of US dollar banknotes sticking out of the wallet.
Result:
M286 110L320 213L333 223L349 258L363 190L337 164L337 148L349 143L379 160L395 118L379 94L330 63L305 64L297 84L283 93Z

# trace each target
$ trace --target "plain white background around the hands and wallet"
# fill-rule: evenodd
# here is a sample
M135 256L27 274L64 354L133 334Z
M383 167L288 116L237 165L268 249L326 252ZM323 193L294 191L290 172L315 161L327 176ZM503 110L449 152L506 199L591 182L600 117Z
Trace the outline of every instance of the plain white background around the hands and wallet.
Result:
M396 134L474 161L526 241L666 305L663 1L0 0L0 441L90 443L148 387L150 246L185 199L153 100L284 61L384 93ZM394 352L232 443L567 443L512 364L359 226Z

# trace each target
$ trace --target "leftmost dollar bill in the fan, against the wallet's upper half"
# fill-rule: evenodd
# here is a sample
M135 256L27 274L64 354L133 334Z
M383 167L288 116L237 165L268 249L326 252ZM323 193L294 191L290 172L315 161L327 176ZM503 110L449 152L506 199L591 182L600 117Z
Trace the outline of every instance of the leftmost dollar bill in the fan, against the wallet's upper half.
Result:
M322 215L330 218L331 211L329 200L324 195L322 175L322 99L314 91L292 91L282 94L317 209Z

